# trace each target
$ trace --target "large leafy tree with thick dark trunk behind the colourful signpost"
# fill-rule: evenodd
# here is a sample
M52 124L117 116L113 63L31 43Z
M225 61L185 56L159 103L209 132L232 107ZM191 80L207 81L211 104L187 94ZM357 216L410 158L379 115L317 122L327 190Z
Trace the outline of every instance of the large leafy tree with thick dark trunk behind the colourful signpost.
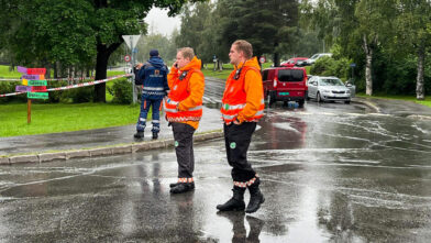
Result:
M109 57L123 43L121 36L144 33L140 22L151 8L167 8L173 15L188 1L202 0L2 0L14 21L0 23L0 30L15 36L8 43L22 63L77 63L96 55L96 79L104 79ZM3 10L0 18L4 15ZM95 101L106 101L104 82L95 92Z

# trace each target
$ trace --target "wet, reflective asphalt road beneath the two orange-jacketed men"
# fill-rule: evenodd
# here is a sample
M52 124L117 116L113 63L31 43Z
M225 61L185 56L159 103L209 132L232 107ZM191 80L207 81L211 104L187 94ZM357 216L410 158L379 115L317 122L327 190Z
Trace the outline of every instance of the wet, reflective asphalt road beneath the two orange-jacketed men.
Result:
M211 97L209 99L212 99ZM211 104L217 106L217 104ZM205 124L201 124L205 125ZM429 242L431 123L362 104L278 104L248 159L256 213L231 196L221 140L195 145L197 188L169 195L173 150L0 168L1 242ZM246 201L248 194L246 194Z

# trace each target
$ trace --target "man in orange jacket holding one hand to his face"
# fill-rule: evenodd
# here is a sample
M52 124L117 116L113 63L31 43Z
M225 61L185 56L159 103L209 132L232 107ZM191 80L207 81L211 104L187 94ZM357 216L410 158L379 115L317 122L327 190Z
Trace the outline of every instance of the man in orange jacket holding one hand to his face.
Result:
M202 117L205 91L201 60L190 47L180 48L167 76L169 93L165 100L166 120L172 124L178 163L178 181L170 184L172 194L195 189L194 133Z

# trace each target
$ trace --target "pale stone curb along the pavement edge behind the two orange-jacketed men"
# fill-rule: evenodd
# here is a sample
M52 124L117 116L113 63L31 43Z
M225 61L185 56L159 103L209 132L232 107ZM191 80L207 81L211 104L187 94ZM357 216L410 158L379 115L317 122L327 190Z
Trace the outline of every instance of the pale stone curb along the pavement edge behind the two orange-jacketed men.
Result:
M220 139L223 137L223 134L224 133L222 130L198 133L194 136L194 141L202 142L207 140ZM112 145L108 147L82 148L82 150L75 150L75 151L32 153L32 154L23 154L23 155L7 155L0 157L0 166L131 154L131 153L137 153L137 152L144 152L144 151L170 147L170 146L174 146L174 139L147 141L141 143L131 143L131 144L119 144L119 145Z

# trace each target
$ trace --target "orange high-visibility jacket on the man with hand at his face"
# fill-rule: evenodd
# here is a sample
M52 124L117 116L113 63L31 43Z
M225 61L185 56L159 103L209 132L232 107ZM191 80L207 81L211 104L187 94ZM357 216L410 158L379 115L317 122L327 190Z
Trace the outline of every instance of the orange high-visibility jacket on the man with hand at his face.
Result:
M196 56L179 70L170 68L167 76L169 95L165 99L166 120L181 122L198 129L202 117L205 78L200 71L201 60Z

